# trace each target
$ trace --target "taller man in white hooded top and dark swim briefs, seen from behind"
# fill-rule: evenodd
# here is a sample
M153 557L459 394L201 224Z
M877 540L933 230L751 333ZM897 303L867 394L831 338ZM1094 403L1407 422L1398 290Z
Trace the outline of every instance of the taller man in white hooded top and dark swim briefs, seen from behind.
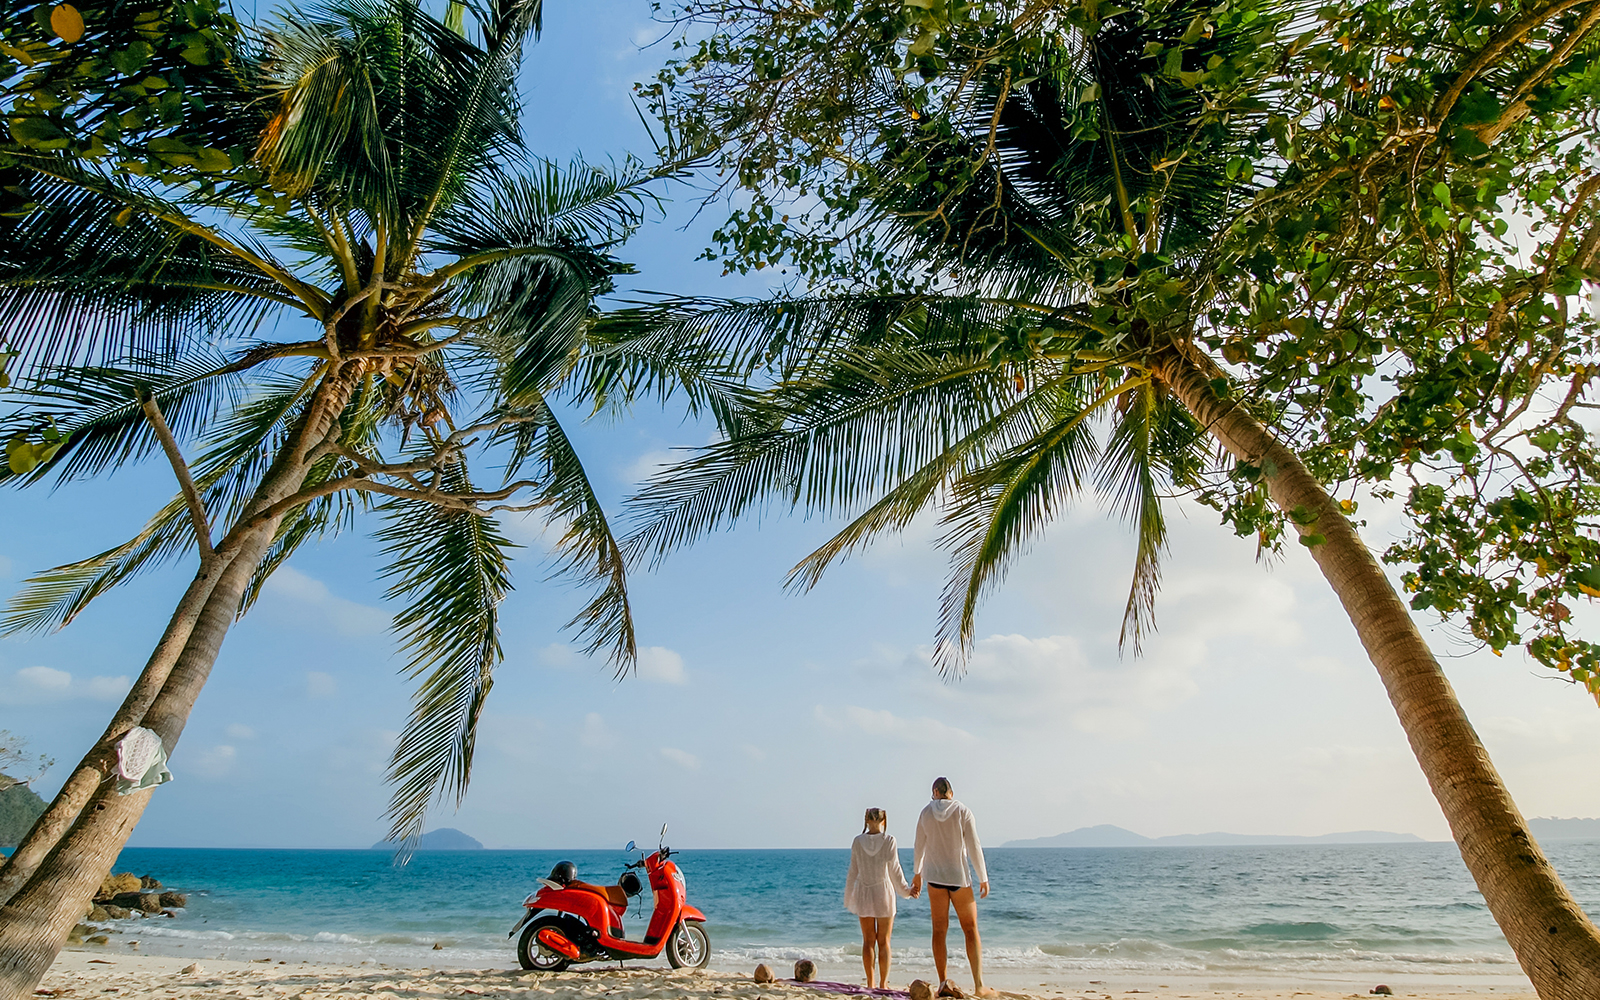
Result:
M973 811L955 802L949 778L933 782L933 802L917 818L917 850L912 861L912 896L922 891L928 878L928 906L933 907L933 966L939 973L939 992L947 992L944 974L947 949L944 936L950 930L950 906L962 922L966 936L966 963L973 966L973 992L978 997L994 997L984 986L984 946L978 939L978 899L973 898L973 880L966 866L978 872L978 896L989 896L989 869L984 867L984 848L978 843L978 821ZM960 995L960 994L955 994Z

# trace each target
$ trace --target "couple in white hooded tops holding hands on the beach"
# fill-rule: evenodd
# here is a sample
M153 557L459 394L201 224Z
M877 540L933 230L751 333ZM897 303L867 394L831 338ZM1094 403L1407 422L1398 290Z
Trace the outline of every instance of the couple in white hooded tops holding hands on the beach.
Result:
M989 894L989 870L984 867L984 850L978 843L973 811L955 800L947 778L933 782L933 802L917 818L910 885L906 885L894 838L883 829L886 822L883 810L867 810L866 829L850 846L850 874L845 877L845 909L861 918L861 963L867 970L867 986L874 986L874 971L877 986L888 986L896 893L914 899L922 894L926 880L928 904L933 909L933 966L939 973L939 995L963 995L944 973L947 958L944 936L950 930L950 907L955 907L955 918L966 938L966 962L973 968L974 995L992 997L994 990L984 987L982 942L978 939L978 899ZM973 896L968 862L978 872L978 896Z

